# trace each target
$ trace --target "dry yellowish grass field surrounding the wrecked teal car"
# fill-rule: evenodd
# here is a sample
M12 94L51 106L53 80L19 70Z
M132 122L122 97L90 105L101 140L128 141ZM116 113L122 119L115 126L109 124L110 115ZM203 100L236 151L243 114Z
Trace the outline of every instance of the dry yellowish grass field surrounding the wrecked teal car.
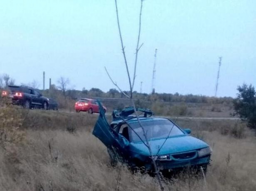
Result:
M160 190L155 178L113 168L92 134L97 114L0 108L0 190ZM207 141L212 162L202 178L180 174L165 190L255 190L256 138L236 120L178 119Z

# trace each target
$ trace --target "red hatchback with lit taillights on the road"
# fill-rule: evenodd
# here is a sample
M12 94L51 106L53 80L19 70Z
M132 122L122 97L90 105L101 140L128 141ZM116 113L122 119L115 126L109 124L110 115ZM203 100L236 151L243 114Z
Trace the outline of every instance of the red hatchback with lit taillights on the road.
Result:
M107 108L103 106L106 113ZM98 102L94 99L80 99L75 105L76 112L88 111L88 113L99 113Z

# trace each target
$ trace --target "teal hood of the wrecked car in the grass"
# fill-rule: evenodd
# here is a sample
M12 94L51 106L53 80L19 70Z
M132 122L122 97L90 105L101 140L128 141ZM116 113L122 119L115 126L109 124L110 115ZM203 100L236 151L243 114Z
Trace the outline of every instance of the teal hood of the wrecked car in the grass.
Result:
M150 141L153 155L156 155L158 153L158 150L162 146L164 141L165 139L157 139L157 140ZM208 146L209 145L204 141L201 141L190 135L170 137L166 140L166 142L164 143L158 155L181 153L181 152L201 149ZM145 156L150 156L148 148L142 142L131 143L130 150L135 153L139 153Z

